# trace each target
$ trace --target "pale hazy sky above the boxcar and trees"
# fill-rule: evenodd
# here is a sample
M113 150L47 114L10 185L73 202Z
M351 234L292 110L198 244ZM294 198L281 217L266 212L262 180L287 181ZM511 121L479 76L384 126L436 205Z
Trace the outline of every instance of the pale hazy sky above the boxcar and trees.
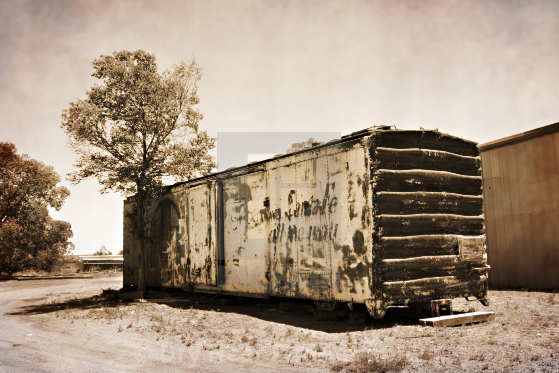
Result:
M559 121L555 0L2 0L0 43L0 141L63 178L75 155L60 113L115 50L144 49L161 70L195 53L214 136L421 125L484 143ZM122 196L63 183L52 215L72 224L75 253L118 252Z

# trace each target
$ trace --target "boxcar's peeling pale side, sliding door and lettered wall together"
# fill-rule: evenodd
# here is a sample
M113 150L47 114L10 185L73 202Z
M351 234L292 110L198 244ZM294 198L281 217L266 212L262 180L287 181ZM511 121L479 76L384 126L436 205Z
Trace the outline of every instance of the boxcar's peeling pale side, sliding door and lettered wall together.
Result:
M356 140L223 180L219 287L234 294L370 298L367 158Z

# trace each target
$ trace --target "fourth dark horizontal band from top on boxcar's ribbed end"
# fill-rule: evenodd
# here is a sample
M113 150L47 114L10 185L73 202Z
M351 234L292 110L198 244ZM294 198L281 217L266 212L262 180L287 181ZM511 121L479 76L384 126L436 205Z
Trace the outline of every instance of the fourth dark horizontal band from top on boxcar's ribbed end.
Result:
M378 192L377 214L482 214L483 197L441 192Z

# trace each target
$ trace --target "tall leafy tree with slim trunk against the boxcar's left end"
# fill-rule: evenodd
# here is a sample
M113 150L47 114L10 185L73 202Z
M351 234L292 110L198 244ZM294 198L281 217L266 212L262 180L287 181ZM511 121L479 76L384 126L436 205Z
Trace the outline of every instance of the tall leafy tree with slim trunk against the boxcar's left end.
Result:
M133 196L126 218L138 239L138 287L144 290L151 200L163 192L164 178L188 180L216 167L208 154L215 138L198 129L202 69L192 58L160 74L155 56L143 50L102 55L93 69L102 83L62 114L61 127L79 155L69 180L95 177L102 193Z

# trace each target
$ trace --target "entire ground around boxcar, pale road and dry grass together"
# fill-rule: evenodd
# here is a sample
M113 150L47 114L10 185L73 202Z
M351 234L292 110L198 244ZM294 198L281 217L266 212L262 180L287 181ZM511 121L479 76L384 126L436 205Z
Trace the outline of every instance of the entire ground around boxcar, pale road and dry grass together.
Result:
M495 320L432 328L399 310L350 324L258 299L124 302L121 284L0 282L0 371L559 371L552 293L490 291L488 308L455 300Z

